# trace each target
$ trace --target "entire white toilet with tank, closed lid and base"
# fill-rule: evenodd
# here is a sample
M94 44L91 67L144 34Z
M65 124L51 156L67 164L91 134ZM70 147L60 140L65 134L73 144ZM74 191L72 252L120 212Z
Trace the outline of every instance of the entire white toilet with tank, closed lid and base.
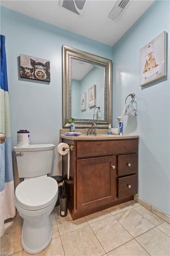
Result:
M50 213L57 197L56 180L51 172L53 144L14 147L18 175L24 178L15 190L15 205L24 219L21 243L28 253L42 251L52 238Z

